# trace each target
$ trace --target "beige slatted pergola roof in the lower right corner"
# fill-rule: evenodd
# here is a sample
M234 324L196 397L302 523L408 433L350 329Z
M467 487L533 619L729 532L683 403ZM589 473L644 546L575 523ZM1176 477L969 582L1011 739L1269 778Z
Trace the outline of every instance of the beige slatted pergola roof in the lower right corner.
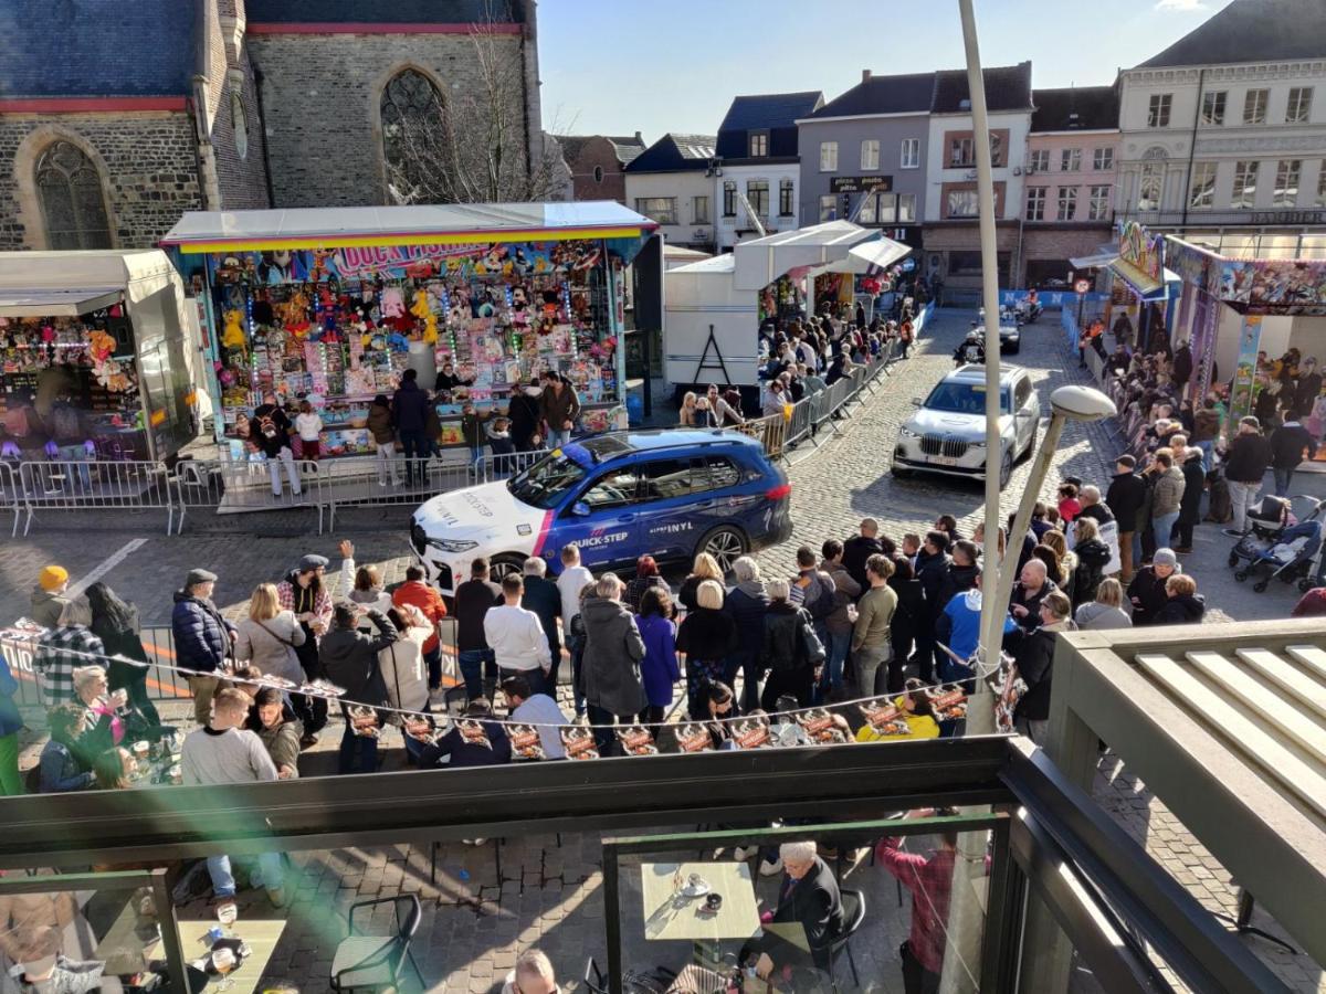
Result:
M1048 744L1081 783L1094 775L1105 740L1318 962L1326 962L1323 639L1321 619L1066 634L1054 656Z

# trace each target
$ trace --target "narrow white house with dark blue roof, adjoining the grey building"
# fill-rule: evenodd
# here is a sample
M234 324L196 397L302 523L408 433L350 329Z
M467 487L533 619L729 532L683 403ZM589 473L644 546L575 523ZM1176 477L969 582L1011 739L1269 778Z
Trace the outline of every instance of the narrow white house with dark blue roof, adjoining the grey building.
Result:
M743 239L760 237L745 196L765 233L801 227L801 159L797 118L823 106L823 94L765 93L736 97L719 126L713 180L717 248L731 252Z

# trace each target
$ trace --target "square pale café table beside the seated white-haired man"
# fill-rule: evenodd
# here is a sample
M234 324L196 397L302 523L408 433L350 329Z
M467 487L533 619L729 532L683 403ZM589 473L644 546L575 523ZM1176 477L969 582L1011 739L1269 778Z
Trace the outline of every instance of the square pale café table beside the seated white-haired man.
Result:
M678 892L679 869L683 888L692 873L699 873L708 884L707 895L691 897ZM715 912L704 911L708 893L723 897ZM701 962L721 961L721 940L747 940L760 930L754 883L747 863L642 863L640 897L644 937L655 942L690 940Z

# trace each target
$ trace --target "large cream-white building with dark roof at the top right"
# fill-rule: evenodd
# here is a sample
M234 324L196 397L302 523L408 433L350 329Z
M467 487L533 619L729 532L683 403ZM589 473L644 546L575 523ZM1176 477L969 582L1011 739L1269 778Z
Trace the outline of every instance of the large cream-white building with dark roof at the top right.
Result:
M1227 249L1326 244L1326 5L1235 0L1120 73L1119 127L1120 216Z

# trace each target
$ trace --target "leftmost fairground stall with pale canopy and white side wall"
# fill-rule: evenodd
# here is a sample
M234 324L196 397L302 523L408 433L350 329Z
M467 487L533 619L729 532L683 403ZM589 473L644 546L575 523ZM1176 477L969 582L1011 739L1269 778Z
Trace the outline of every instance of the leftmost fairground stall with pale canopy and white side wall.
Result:
M187 326L164 252L0 253L5 457L172 457L200 412Z

